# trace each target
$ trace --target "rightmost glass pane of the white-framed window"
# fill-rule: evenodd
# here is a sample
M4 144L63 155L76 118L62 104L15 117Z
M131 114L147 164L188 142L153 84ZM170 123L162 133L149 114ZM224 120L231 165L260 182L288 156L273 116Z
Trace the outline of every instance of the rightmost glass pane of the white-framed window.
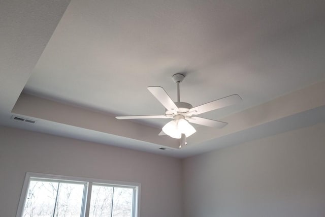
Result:
M113 215L114 217L132 217L133 189L114 188Z

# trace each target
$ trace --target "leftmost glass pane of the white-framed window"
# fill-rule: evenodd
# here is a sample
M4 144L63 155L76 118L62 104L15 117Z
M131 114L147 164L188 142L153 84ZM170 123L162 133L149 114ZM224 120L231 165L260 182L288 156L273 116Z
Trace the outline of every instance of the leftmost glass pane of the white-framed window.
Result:
M30 181L22 216L53 216L58 182Z

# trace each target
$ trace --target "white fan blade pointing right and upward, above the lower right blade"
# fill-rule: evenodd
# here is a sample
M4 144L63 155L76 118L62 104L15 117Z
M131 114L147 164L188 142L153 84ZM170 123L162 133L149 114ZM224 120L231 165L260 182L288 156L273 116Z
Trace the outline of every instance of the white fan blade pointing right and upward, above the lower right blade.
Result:
M210 103L203 104L201 106L197 106L194 108L191 108L187 113L192 113L192 114L202 114L208 111L212 111L215 109L223 108L226 106L230 106L236 103L239 103L242 101L242 98L238 96L237 94L224 97L215 101L212 101Z

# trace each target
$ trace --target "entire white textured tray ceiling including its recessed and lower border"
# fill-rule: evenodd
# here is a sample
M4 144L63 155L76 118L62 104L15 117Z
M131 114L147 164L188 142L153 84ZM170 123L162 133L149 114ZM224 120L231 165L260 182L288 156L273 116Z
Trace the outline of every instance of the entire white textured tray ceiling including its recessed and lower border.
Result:
M2 125L187 157L325 120L324 1L73 0L64 14L69 1L4 3ZM193 106L242 97L200 115L229 126L195 126L177 150L156 136L166 120L112 118L163 114L146 87L176 100L179 72L181 101ZM15 113L37 125L10 121Z

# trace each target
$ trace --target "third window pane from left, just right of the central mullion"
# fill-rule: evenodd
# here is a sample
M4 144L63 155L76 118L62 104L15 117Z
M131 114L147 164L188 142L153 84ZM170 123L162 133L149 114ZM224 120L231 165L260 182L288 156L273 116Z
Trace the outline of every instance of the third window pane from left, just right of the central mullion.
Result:
M92 185L89 217L111 217L113 187Z

